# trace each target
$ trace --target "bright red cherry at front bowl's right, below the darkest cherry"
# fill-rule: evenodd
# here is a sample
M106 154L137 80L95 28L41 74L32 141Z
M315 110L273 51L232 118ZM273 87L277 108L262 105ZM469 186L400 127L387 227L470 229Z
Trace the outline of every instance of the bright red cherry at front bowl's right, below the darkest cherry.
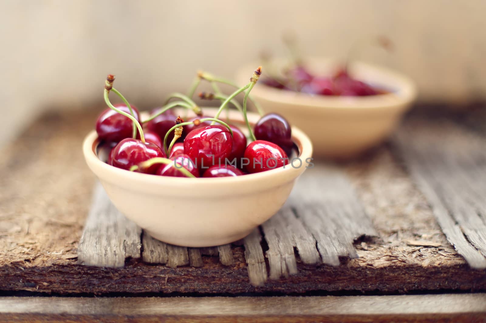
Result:
M246 147L244 151L245 169L248 173L259 173L275 169L289 163L287 154L278 145L256 140Z

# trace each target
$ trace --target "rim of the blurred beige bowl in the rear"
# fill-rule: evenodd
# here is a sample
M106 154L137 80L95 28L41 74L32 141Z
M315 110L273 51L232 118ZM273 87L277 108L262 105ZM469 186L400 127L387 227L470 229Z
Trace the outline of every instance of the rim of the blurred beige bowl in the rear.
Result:
M283 62L284 59L276 59L276 65L279 62ZM333 57L309 57L307 60L308 65L326 65L328 68L338 66L339 60ZM245 65L237 70L236 80L241 82L248 78L249 71L254 68L255 64ZM324 96L324 95L311 95L307 93L285 91L267 86L263 83L258 84L252 91L255 97L261 97L262 99L274 101L276 103L289 105L298 104L305 105L311 108L326 108L332 110L382 110L383 108L390 108L396 105L407 105L417 98L417 86L414 81L405 75L394 71L390 68L378 66L374 64L364 63L361 61L353 61L350 67L353 72L357 74L370 73L376 74L381 78L391 79L397 86L394 92L379 94L376 96L364 96L364 97L351 97L351 96ZM265 75L264 66L262 68L263 75ZM381 84L384 81L376 81L374 83ZM386 86L385 86L386 87ZM354 112L354 111L353 111Z

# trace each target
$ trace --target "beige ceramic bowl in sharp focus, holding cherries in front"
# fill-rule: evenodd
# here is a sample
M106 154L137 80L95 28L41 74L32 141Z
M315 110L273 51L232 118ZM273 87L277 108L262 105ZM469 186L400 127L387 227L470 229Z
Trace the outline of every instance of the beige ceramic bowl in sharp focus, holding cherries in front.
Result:
M205 109L204 113L214 115L215 111ZM258 118L249 113L250 122L255 123ZM244 127L242 115L237 111L231 111L230 119ZM163 242L206 247L245 237L280 209L295 179L306 169L306 159L312 156L309 138L295 127L292 135L302 167L293 168L289 164L239 177L174 178L109 166L97 156L96 131L85 138L83 152L89 168L126 217Z

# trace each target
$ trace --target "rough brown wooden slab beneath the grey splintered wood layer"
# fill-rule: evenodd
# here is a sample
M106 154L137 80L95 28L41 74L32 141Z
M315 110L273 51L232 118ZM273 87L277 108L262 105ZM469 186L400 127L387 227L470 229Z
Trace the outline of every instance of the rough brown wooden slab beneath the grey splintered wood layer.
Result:
M279 225L296 228L293 238L286 240L294 248L298 271L289 277L283 272L279 280L265 276L270 272L268 258L264 257L270 250L265 239L253 244L260 246L253 258L244 257L248 247L245 250L243 242L233 244L233 262L228 266L220 261L224 255L229 257L228 253L222 253L222 248L188 248L189 260L184 262L189 261L189 265L170 268L160 264L168 260L164 260L163 253L145 253L150 249L150 241L145 238L141 241L144 250L141 256L146 261L127 258L125 266L119 268L80 265L77 246L95 181L81 149L73 147L81 147L82 137L92 129L97 113L50 114L1 151L0 291L61 294L486 291L486 270L471 269L449 244L427 198L414 185L408 168L401 167L387 146L367 158L339 166L340 172L330 172L338 177L330 182L346 184L340 187L355 194L359 204L352 202L348 206L354 198L333 197L332 192L326 192L323 198L337 201L338 207L329 203L330 207L322 213L313 211L330 219L335 216L328 215L333 210L340 210L343 217L367 214L371 218L377 237L354 242L359 258L341 258L338 266L322 263L326 249L322 249L322 242L321 249L312 246L314 240L318 242L318 235L311 232L315 228L302 221L298 208L289 204L291 198L278 215L284 219ZM333 189L333 185L328 187L330 191ZM301 197L305 198L309 197ZM331 225L335 225L334 221ZM264 238L263 227L260 230L257 233L263 232ZM353 230L348 228L347 232ZM351 236L339 238L344 246L341 253L349 251L348 256L352 255L346 244ZM223 249L227 251L227 247ZM285 258L286 252L277 250L274 253L272 249L277 263L292 264ZM262 262L255 260L260 254ZM249 282L246 262L251 258L262 269L260 281L266 279L259 287Z

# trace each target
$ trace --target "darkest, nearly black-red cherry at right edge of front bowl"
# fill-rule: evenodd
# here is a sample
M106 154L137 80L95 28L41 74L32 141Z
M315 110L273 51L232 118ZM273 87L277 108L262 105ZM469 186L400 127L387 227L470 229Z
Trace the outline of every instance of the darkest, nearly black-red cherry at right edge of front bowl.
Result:
M279 145L287 155L292 153L292 129L289 122L280 114L268 113L255 125L255 138Z

